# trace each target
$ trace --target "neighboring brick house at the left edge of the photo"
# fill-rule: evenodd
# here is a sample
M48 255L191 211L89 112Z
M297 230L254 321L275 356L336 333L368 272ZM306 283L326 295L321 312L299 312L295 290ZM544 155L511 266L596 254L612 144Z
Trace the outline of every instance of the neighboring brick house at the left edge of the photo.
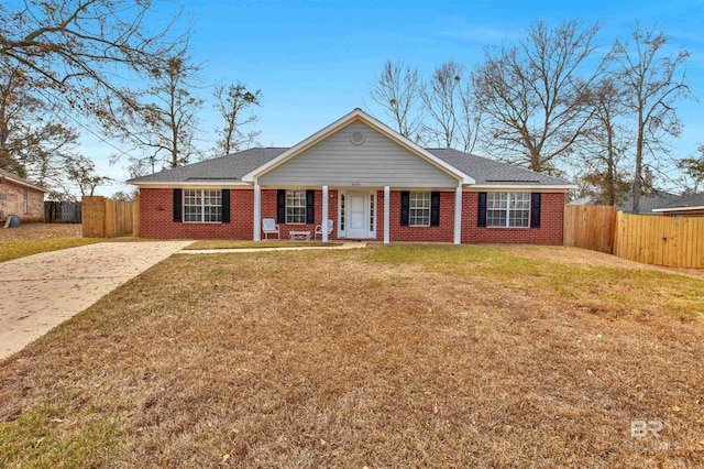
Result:
M22 221L44 220L46 189L0 170L0 219L16 215Z

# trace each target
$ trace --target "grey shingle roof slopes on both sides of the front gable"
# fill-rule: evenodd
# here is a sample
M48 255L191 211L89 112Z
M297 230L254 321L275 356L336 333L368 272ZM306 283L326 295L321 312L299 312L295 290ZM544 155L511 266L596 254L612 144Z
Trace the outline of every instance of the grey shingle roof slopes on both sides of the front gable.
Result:
M275 159L288 149L285 148L260 148L244 150L213 160L206 160L199 163L163 171L148 176L135 177L128 181L133 184L148 183L183 183L195 181L242 181L242 177ZM564 186L571 183L524 170L507 163L488 160L457 150L427 149L430 153L454 166L459 171L472 176L476 184L482 185L541 185L541 186Z

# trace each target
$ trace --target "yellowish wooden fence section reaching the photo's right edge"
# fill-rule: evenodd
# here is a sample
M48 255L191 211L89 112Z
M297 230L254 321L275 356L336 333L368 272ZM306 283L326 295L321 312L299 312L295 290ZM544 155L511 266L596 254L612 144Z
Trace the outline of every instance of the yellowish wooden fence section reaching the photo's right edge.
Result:
M704 268L704 218L618 212L614 254L671 268Z

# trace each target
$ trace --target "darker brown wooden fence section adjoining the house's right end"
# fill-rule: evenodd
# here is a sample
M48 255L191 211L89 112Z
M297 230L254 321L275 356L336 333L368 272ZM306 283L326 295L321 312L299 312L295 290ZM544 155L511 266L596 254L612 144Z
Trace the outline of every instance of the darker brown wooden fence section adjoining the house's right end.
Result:
M564 246L612 254L616 228L616 207L568 205L564 207Z

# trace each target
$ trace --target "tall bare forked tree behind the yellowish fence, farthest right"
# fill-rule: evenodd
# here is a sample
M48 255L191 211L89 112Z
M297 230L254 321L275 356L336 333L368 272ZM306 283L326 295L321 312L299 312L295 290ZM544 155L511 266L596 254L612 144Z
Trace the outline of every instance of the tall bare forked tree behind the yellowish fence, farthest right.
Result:
M636 119L634 214L640 211L642 171L646 156L657 160L667 154L668 137L678 137L682 126L674 105L691 96L685 81L685 61L690 53L668 53L668 39L656 28L636 23L632 41L616 41L609 58L615 63L614 76L625 89L625 103Z

